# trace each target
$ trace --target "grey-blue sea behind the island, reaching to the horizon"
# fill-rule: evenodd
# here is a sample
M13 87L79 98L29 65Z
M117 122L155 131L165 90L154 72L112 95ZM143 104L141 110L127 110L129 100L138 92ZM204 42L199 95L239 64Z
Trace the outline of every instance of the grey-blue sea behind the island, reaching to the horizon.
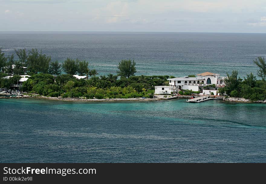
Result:
M89 61L100 75L115 73L122 59L135 59L136 75L187 76L202 72L241 77L256 73L253 60L266 56L266 34L141 32L0 32L6 55L37 48L63 62Z

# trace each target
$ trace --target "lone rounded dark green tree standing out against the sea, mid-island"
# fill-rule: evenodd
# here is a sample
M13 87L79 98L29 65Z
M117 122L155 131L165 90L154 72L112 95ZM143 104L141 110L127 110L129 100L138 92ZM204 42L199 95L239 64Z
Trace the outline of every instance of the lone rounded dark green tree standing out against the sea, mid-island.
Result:
M117 71L118 75L125 78L134 75L137 72L135 64L134 60L132 62L131 60L121 60L117 66L119 69L119 71Z

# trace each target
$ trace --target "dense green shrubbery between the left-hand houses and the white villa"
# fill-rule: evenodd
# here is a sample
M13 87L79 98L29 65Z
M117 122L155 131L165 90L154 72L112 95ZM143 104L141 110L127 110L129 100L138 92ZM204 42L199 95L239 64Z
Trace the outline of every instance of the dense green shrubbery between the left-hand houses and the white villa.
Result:
M50 74L38 73L23 82L21 90L36 94L63 98L86 97L97 98L153 98L154 86L162 85L167 76L131 76L129 78L117 77L109 74L94 76L88 80L77 79L70 74L58 75L56 78Z

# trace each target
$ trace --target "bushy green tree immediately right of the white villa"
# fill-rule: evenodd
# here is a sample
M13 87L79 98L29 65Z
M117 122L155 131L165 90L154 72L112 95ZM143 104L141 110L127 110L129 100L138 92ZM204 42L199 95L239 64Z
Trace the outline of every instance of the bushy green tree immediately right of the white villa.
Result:
M237 78L237 75L238 75L237 70L233 70L232 75L229 75L228 73L226 73L226 75L227 77L224 79L225 84L226 84L225 91L226 91L226 94L230 94L231 91L238 90L238 85L242 79Z

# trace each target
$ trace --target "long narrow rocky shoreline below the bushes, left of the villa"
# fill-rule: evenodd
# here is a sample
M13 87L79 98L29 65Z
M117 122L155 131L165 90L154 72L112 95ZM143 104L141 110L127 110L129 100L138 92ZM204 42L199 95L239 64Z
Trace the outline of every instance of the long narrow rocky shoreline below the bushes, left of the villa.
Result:
M90 101L158 101L156 98L115 98L115 99L81 99L81 98L61 98L61 97L44 97L44 96L31 96L31 95L23 95L21 97L0 97L0 98L40 98L47 100L61 100L61 101L71 101L71 102L90 102Z

